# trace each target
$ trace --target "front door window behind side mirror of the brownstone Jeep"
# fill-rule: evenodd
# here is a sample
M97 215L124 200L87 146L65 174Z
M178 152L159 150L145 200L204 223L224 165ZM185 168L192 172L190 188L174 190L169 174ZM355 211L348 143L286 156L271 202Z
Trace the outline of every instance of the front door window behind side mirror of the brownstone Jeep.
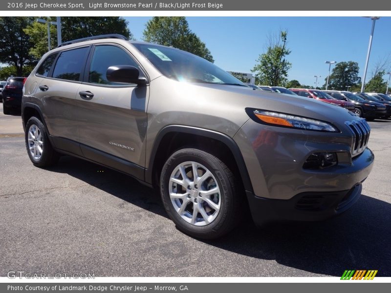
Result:
M96 46L92 55L88 74L88 83L119 85L107 80L106 72L113 65L131 65L140 70L138 64L123 49L112 45ZM140 75L142 72L140 70Z

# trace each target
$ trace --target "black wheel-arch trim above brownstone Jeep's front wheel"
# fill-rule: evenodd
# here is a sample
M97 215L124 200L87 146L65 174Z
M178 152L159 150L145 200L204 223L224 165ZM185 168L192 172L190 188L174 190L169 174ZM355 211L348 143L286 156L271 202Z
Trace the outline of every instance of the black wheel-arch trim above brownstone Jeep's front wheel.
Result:
M197 128L192 126L181 126L181 125L165 126L157 134L151 151L150 163L148 168L145 170L145 180L147 183L152 184L152 167L160 142L166 134L171 132L181 132L181 133L199 135L199 136L215 139L223 143L225 146L228 146L228 148L230 149L230 151L232 152L235 158L235 162L238 166L240 177L243 182L243 186L245 190L253 192L253 187L251 185L250 177L248 175L247 168L243 160L243 156L241 155L239 146L235 143L235 141L232 138L230 138L229 136L223 133L216 132L213 130Z

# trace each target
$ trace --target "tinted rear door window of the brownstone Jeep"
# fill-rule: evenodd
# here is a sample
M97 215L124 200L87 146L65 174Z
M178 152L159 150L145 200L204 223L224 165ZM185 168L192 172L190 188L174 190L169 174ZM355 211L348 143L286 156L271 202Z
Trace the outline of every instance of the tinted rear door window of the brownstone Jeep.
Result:
M53 77L79 81L89 47L61 52L53 70Z

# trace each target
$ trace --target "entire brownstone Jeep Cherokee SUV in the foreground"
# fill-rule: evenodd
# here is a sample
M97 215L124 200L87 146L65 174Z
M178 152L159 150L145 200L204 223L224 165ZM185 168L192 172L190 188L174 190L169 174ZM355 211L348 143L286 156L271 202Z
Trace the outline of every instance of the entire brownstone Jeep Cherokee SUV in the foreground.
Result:
M67 154L129 174L205 239L247 210L257 224L339 214L374 159L369 125L342 107L253 90L193 54L120 35L46 53L22 120L35 166Z

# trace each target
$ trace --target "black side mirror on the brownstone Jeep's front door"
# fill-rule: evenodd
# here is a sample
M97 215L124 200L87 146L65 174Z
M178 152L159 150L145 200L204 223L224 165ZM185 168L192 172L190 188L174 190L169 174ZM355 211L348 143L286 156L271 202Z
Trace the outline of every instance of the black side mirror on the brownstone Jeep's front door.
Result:
M112 83L146 84L147 79L139 75L139 70L131 65L113 65L106 71L106 77Z

